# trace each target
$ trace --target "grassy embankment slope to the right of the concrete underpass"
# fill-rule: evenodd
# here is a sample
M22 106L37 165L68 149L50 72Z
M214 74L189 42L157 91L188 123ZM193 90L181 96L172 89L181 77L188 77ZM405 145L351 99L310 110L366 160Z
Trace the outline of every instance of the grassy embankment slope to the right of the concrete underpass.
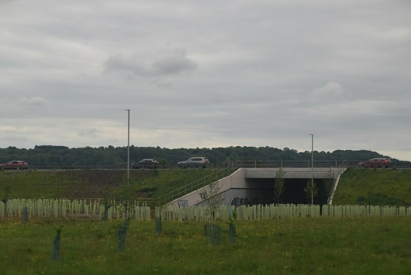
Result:
M411 170L347 169L340 178L332 203L411 205Z

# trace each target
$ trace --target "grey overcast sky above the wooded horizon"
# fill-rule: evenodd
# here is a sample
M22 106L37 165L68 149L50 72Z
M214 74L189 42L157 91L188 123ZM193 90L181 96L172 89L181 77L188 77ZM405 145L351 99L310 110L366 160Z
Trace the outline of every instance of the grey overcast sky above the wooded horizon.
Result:
M0 0L0 148L411 160L411 1Z

